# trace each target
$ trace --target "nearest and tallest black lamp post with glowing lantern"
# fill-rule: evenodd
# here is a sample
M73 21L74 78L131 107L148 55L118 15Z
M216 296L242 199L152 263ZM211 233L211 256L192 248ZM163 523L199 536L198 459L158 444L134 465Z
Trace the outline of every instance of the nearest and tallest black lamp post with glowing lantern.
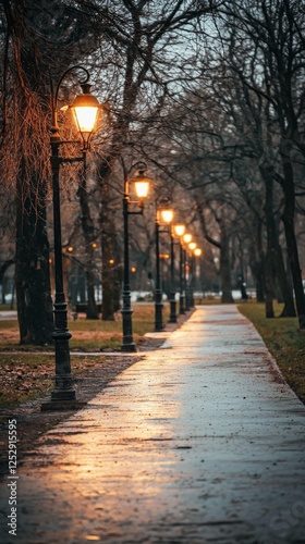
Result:
M72 71L83 71L86 75L84 82L80 82L82 95L74 99L69 107L76 123L76 127L83 140L82 157L65 158L60 156L60 146L70 144L61 139L58 126L58 96L60 86L64 77ZM66 162L84 161L91 135L97 127L98 113L100 104L98 100L90 95L90 85L88 84L89 73L84 66L75 65L66 70L59 79L56 92L51 86L51 171L52 171L52 191L53 191L53 238L54 238L54 341L56 351L56 384L51 392L51 401L41 405L42 410L81 407L76 401L76 393L73 384L69 339L71 333L68 329L66 301L63 289L63 269L62 269L62 242L61 242L61 213L60 213L60 166Z

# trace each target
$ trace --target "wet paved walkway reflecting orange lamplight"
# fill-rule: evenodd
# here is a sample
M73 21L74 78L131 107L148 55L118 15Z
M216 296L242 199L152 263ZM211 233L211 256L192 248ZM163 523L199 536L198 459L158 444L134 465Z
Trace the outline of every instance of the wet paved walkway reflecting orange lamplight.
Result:
M232 305L198 307L19 468L3 544L304 543L305 406ZM20 430L21 431L21 430Z

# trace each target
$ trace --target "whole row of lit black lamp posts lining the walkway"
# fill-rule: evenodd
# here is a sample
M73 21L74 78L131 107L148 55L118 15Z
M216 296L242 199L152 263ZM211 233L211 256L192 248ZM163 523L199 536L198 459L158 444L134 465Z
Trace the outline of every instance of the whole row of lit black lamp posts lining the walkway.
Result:
M68 158L60 153L61 146L72 144L71 140L62 140L58 126L58 98L59 90L63 79L73 71L82 71L85 74L83 82L80 82L82 94L76 96L69 109L73 113L77 132L82 138L82 156ZM80 162L86 168L86 154L90 147L90 139L98 125L98 118L103 107L99 104L96 97L90 94L89 73L82 65L71 66L59 79L56 90L51 85L51 171L52 171L52 193L53 193L53 238L54 238L54 356L56 356L56 383L51 392L50 401L42 403L42 410L71 409L80 408L84 403L76 399L75 387L73 383L69 341L71 333L68 329L68 304L63 289L63 269L62 269L62 240L61 240L61 212L60 212L60 166L64 163ZM149 180L145 175L146 164L138 162L132 166L132 171L137 169L134 177L125 176L123 190L123 222L124 222L124 276L123 276L123 306L122 306L122 351L135 351L136 346L133 341L132 307L131 307L131 286L130 286L130 256L129 256L129 215L142 214L144 210L144 199L149 189ZM132 172L130 172L132 173ZM133 184L137 200L131 200L130 185ZM137 209L131 209L136 205ZM174 212L170 207L169 200L161 200L156 212L156 292L155 292L155 330L163 330L162 321L162 287L160 277L160 249L159 235L161 233L170 234L171 244L171 263L170 263L170 322L176 322L176 302L174 286L174 238L179 238L180 244L180 308L179 313L185 313L191 308L187 288L187 244L192 236L185 234L184 225L173 225ZM191 236L191 238L190 238ZM184 245L183 245L184 244ZM190 249L192 249L190 247ZM194 249L194 248L193 248ZM197 249L197 256L199 256ZM196 255L196 252L194 254Z

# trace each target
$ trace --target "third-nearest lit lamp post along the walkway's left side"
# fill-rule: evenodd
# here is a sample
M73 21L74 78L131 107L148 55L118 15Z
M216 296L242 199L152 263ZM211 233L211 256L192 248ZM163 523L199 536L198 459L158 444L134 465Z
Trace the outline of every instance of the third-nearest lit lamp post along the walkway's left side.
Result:
M155 235L156 235L156 292L155 292L155 331L160 332L163 330L163 318L162 318L162 288L160 279L160 244L159 234L161 232L160 226L169 225L173 220L173 210L170 208L170 202L168 199L161 200L157 207L156 212L156 224L155 224Z

